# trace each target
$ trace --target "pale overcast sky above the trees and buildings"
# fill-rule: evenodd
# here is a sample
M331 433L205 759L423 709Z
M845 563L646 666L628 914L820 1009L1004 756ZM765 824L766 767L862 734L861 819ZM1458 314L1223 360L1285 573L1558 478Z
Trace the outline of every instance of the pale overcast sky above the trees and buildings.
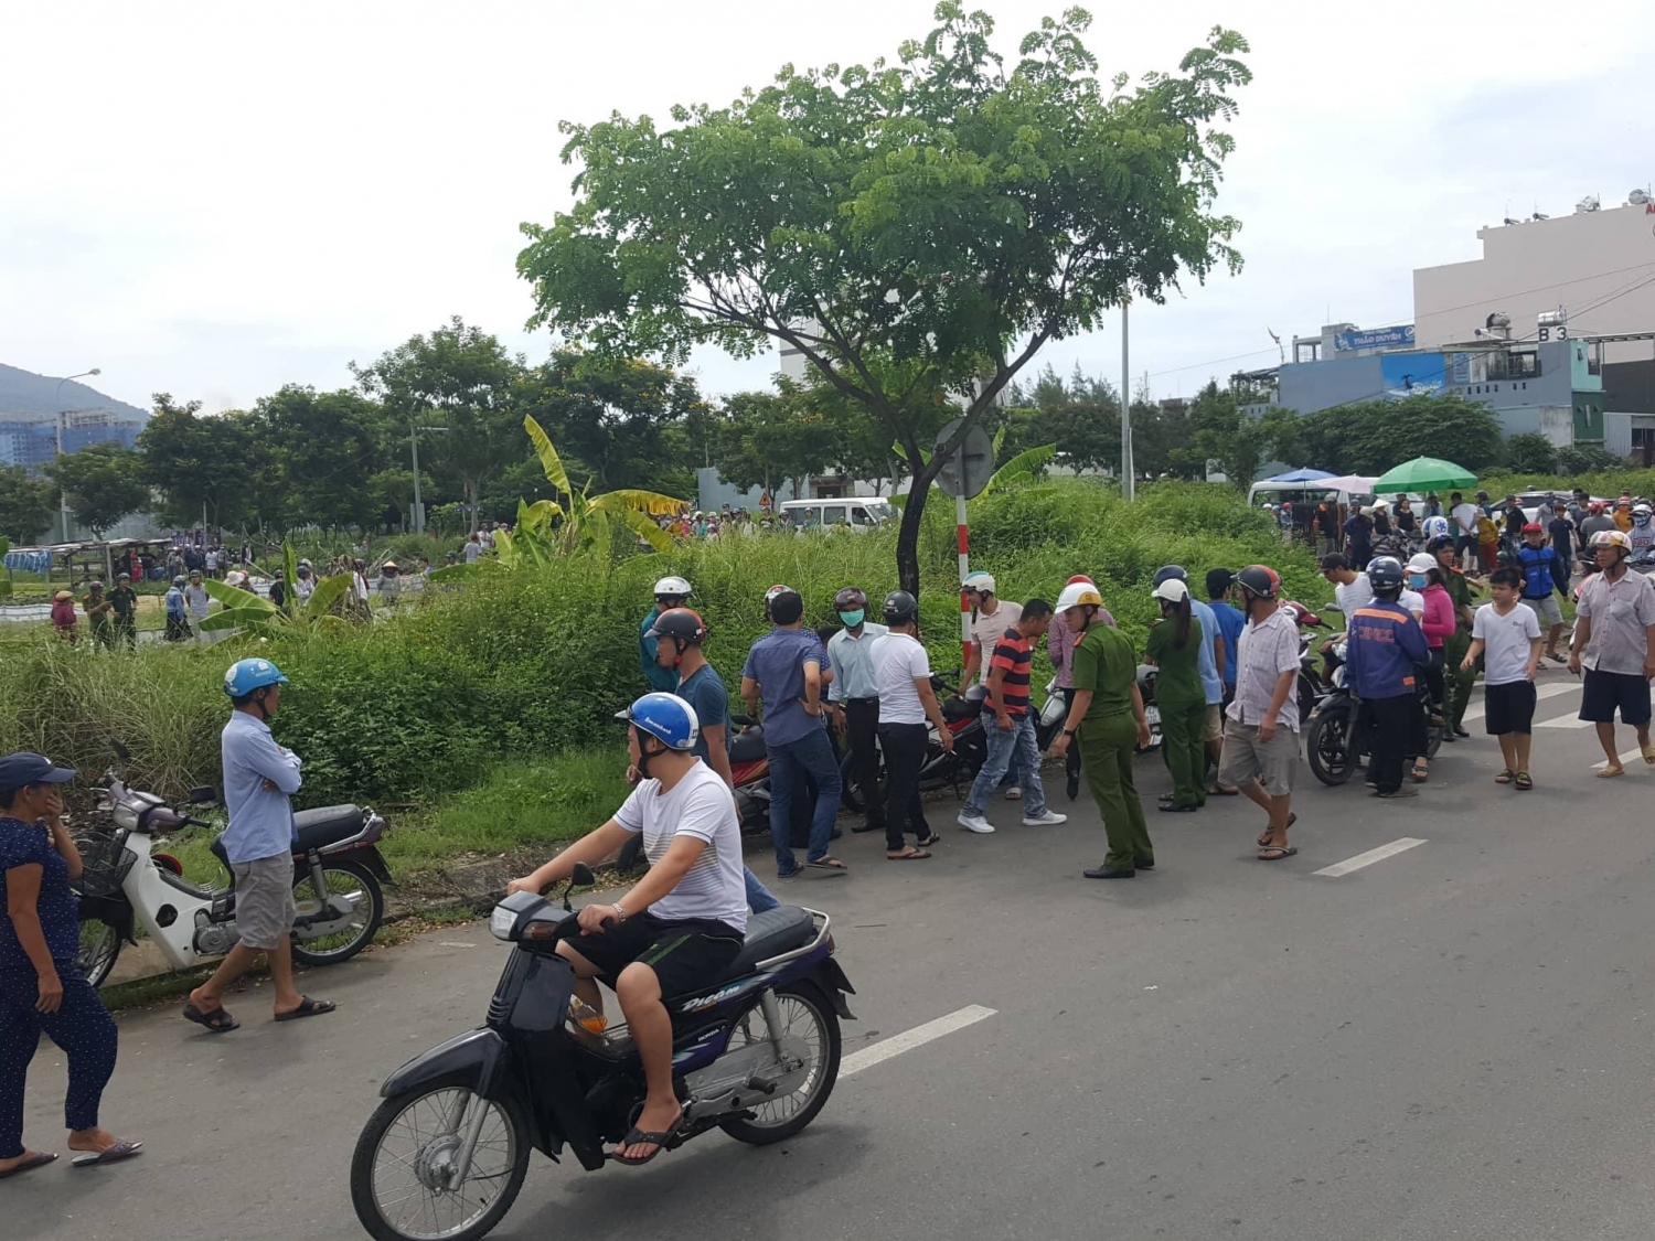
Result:
M1001 51L1056 3L996 0ZM559 119L728 103L788 61L871 61L930 0L424 0L5 8L0 361L243 407L339 387L449 316L530 359L518 223L569 202ZM1134 382L1188 394L1331 314L1412 318L1415 266L1506 213L1619 204L1655 177L1638 83L1655 7L1172 0L1094 5L1104 74L1175 69L1223 22L1253 45L1220 208L1245 271L1134 311ZM1589 17L1587 17L1589 13ZM1038 359L1117 377L1117 331ZM708 392L771 361L697 357Z

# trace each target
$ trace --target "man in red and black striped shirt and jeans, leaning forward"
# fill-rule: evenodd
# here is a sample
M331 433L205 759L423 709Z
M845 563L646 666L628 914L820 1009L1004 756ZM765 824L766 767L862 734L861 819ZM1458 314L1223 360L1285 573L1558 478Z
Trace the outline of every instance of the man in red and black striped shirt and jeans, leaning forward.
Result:
M995 831L985 817L988 798L1000 786L1013 755L1023 778L1023 822L1028 827L1064 822L1069 816L1046 807L1046 789L1039 779L1039 743L1029 713L1029 668L1033 644L1051 627L1051 604L1029 599L1016 625L1001 632L988 660L988 700L983 703L983 728L988 733L988 761L971 783L971 794L960 811L960 826L986 836Z

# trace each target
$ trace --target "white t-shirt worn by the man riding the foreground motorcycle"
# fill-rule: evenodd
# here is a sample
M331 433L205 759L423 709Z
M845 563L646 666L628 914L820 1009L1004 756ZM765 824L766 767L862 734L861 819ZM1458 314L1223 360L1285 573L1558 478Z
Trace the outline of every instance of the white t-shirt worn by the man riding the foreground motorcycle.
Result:
M667 855L672 837L693 836L707 847L679 885L649 907L664 922L727 922L746 930L746 880L741 875L741 824L730 786L705 763L690 768L667 794L659 779L639 781L616 811L616 822L644 832L650 865Z

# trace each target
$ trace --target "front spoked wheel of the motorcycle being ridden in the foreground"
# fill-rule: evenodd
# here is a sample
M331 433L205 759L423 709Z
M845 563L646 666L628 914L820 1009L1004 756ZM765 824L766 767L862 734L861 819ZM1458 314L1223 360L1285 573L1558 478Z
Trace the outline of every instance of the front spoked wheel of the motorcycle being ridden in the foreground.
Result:
M528 1173L528 1122L515 1099L465 1102L450 1124L458 1085L417 1087L386 1099L351 1157L351 1205L377 1241L478 1241L516 1201ZM432 1167L463 1140L473 1109L488 1109L472 1167L458 1190L439 1190Z

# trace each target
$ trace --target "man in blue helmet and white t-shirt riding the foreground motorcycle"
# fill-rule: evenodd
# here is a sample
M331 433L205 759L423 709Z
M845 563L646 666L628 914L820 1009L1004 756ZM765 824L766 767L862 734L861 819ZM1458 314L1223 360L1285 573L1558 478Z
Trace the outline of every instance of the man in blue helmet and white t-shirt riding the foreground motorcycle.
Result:
M650 867L607 905L579 913L581 935L558 943L574 966L576 993L602 1008L597 981L609 983L626 1014L647 1097L611 1155L649 1163L684 1122L672 1089L672 1018L664 998L710 989L741 951L746 885L735 801L718 773L693 750L695 708L672 693L645 693L626 710L627 750L642 776L616 816L588 832L508 892L540 892L568 879L576 862L594 865L642 832Z

